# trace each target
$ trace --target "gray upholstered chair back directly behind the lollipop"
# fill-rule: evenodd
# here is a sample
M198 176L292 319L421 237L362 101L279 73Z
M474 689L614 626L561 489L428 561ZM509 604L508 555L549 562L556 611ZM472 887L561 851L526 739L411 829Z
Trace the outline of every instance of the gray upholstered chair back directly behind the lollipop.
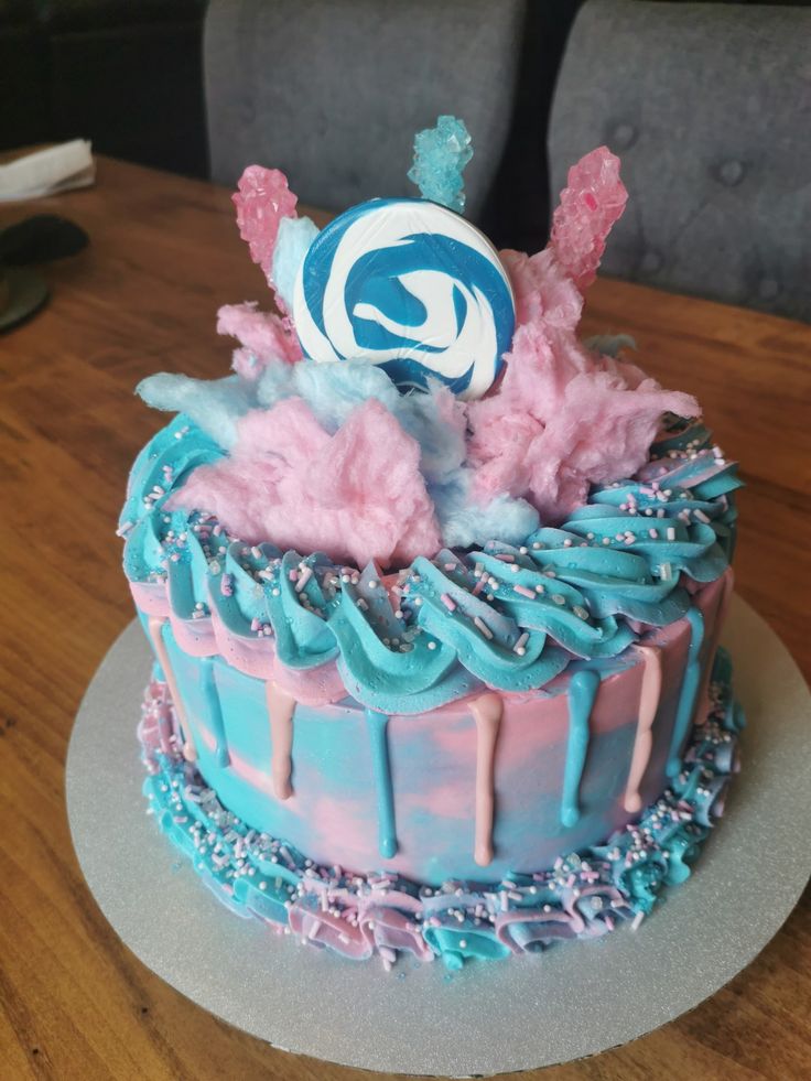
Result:
M507 141L520 0L213 0L205 23L212 177L282 169L329 209L415 195L414 133L440 113L473 136L467 214L479 217Z

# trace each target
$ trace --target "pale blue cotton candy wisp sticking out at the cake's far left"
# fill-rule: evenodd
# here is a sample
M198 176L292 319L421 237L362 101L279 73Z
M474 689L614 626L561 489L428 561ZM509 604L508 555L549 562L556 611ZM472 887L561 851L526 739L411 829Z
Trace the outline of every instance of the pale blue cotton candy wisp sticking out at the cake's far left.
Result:
M238 376L191 379L162 371L142 379L136 393L153 409L187 413L224 450L237 441L237 421L255 404L251 385Z

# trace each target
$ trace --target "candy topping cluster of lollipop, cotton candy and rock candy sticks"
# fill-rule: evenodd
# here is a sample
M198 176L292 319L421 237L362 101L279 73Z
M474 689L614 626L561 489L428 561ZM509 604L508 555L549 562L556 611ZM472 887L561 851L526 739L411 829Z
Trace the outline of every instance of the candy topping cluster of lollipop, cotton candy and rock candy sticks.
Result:
M442 117L415 145L423 195L461 208L464 125ZM428 197L372 199L320 233L283 174L247 169L237 220L281 314L223 307L234 375L139 387L221 452L169 509L214 514L251 544L389 567L520 543L632 477L663 421L699 407L614 356L617 340L577 337L626 197L618 160L595 150L570 172L548 247L499 256Z

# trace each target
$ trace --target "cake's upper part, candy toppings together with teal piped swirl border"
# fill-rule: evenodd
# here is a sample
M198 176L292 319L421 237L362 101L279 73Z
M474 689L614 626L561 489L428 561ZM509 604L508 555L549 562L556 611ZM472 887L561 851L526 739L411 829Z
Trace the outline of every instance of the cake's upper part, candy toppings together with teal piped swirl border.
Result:
M577 336L618 160L573 166L527 256L457 213L463 125L417 149L421 199L322 231L278 170L247 169L237 220L278 312L220 309L231 375L138 388L180 413L121 516L139 606L210 623L300 701L534 691L683 617L732 554L736 466L695 400L618 356L627 338Z

